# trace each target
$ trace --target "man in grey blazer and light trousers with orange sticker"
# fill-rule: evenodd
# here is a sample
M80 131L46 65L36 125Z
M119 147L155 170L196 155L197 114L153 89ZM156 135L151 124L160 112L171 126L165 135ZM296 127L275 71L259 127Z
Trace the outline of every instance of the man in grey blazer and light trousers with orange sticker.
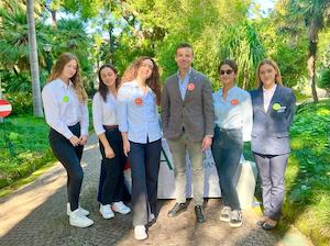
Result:
M163 133L174 160L176 204L168 212L174 217L187 210L186 152L191 164L196 221L205 222L204 150L210 147L215 111L210 80L191 68L194 51L189 44L176 48L178 71L166 79L162 94Z

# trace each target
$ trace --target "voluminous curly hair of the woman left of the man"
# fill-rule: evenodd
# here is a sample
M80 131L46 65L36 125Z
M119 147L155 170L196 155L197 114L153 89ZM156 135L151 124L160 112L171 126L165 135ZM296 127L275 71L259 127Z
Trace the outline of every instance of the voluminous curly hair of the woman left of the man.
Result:
M156 103L160 105L161 103L161 83L160 83L160 71L158 66L155 60L148 56L139 57L129 68L124 71L122 76L122 82L129 82L136 78L138 69L142 65L143 60L150 59L153 65L153 71L148 79L146 79L145 83L152 89L152 91L156 94Z

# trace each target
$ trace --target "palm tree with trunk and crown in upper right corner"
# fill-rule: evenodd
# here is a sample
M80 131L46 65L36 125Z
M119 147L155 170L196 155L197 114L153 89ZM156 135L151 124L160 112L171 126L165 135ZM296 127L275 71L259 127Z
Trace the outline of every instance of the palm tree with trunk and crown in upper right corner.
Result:
M298 21L304 21L308 27L308 60L307 69L311 81L311 93L314 102L318 102L316 90L316 62L318 34L329 25L330 2L329 0L288 0L289 13ZM298 19L297 19L298 16Z

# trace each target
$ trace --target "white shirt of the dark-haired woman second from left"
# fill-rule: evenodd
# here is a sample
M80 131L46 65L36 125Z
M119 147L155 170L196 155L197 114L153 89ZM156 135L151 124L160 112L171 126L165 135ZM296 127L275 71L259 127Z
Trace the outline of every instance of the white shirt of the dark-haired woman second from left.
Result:
M92 123L97 135L105 133L103 125L118 125L117 121L117 99L111 92L107 94L107 101L99 92L92 99Z

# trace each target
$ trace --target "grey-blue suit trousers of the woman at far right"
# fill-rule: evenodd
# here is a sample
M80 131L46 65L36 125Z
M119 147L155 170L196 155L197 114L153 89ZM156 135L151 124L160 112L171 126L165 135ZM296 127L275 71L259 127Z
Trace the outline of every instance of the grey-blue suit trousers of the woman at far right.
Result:
M284 175L289 154L274 156L253 153L253 156L262 180L264 215L278 221L285 193Z

